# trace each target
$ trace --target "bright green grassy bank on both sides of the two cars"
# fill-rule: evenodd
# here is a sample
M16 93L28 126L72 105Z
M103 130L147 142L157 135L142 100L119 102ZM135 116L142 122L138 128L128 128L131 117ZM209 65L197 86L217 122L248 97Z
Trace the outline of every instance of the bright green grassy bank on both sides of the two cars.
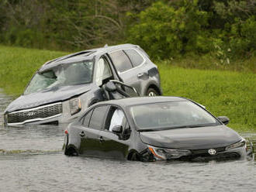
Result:
M64 54L66 53L0 46L0 87L7 94L21 94L38 67L47 60ZM178 60L175 62L157 63L164 95L191 98L206 105L213 115L227 115L231 128L237 131L256 131L256 74L185 69L176 67ZM180 66L184 64L181 63Z

